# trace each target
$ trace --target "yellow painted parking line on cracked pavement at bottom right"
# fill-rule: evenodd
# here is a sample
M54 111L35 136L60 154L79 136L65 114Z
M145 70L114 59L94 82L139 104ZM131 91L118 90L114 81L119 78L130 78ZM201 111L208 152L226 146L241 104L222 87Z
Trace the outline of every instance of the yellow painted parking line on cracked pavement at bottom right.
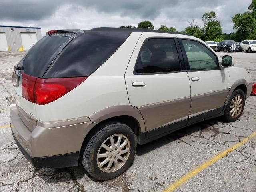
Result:
M198 174L200 171L204 170L205 168L207 168L214 162L218 161L220 158L225 157L229 152L232 152L233 150L235 150L236 148L238 148L239 146L241 146L242 144L244 144L245 142L247 142L248 140L252 139L255 136L256 136L256 132L253 132L253 134L244 138L241 142L216 154L214 157L210 158L209 160L207 160L206 162L204 162L203 164L201 164L194 170L192 170L192 171L188 172L186 175L182 176L176 182L172 183L170 186L168 186L166 189L164 189L163 192L172 192L174 189L178 188L180 185L182 185L184 182L186 182L187 180L189 180L190 178L192 178L193 176Z

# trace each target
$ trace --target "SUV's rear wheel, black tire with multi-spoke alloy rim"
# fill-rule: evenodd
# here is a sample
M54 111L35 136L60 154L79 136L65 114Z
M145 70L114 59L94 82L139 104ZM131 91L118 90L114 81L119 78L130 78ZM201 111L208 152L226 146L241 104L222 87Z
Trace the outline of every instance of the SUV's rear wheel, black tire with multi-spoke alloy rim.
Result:
M110 143L111 136L114 136L114 144L118 144L118 138L120 136L122 138L120 140L120 145L113 145L114 147L112 147L112 144ZM122 148L122 144L125 140L128 140L128 144L125 144L124 148ZM102 146L103 144L108 146L109 152ZM116 148L118 149L116 150ZM121 150L129 152L121 155ZM83 146L81 159L86 171L96 180L103 181L115 178L125 172L134 162L135 152L136 140L131 128L121 122L108 122L99 126L97 131L92 134L88 143ZM104 157L97 158L100 154L104 155ZM107 157L105 157L105 154L107 154ZM124 157L125 162L119 159L121 158L120 156ZM110 161L107 160L107 163L103 166L98 165L106 159L109 159ZM106 170L111 161L112 163L109 170ZM115 170L115 165L117 166L117 170Z

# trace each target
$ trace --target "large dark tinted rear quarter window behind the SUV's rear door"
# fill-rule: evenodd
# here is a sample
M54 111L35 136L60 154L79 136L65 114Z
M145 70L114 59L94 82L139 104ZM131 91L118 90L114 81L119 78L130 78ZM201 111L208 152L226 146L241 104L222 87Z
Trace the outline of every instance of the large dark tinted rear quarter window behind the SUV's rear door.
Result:
M90 76L129 35L130 32L86 32L78 36L56 58L44 78Z

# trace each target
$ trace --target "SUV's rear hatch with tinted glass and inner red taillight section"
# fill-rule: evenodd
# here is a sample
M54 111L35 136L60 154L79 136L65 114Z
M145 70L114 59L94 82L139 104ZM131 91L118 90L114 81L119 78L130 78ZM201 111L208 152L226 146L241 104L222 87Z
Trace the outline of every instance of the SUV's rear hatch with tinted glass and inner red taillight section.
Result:
M37 119L34 86L61 50L78 34L69 31L50 31L24 55L14 68L12 81L18 112L26 126L33 130Z

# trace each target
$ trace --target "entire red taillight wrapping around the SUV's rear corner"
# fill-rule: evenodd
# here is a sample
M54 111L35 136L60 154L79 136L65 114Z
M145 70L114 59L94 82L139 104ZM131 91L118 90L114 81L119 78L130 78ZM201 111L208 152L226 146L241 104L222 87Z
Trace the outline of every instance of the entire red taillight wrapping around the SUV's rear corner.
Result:
M44 105L62 97L84 82L87 77L42 79L22 74L22 97Z

